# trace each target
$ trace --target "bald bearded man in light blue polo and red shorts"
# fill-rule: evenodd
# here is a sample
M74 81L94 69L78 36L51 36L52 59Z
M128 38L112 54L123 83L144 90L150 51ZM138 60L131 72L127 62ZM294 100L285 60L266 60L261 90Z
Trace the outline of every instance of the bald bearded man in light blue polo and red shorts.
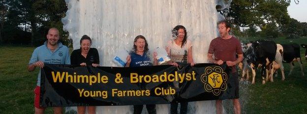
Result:
M59 42L59 30L57 28L50 28L47 34L47 41L37 47L29 61L28 71L34 71L36 67L39 67L39 73L37 77L37 85L34 89L34 109L35 114L43 114L45 108L39 106L40 97L40 75L41 68L44 67L44 63L50 64L70 64L69 50L66 46ZM54 107L54 114L62 114L62 107Z

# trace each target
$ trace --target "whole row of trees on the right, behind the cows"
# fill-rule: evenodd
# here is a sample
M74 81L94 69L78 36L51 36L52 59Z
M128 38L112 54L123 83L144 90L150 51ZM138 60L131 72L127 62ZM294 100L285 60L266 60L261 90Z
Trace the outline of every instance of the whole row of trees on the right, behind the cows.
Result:
M290 18L288 14L290 2L299 3L299 0L233 0L227 18L235 25L234 34L239 36L307 36L307 23ZM240 27L247 29L240 31Z

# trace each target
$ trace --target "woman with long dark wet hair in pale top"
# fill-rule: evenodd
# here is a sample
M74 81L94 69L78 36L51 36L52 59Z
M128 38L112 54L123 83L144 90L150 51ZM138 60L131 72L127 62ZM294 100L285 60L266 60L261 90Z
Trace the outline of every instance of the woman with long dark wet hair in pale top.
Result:
M187 32L184 26L178 25L172 30L173 37L168 41L166 46L166 52L171 60L168 64L174 65L176 67L180 66L182 63L190 63L193 66L195 63L192 57L192 43L187 39ZM180 87L182 84L174 84ZM182 92L182 91L180 91ZM181 102L180 114L187 113L187 102ZM171 103L171 114L177 114L178 103Z

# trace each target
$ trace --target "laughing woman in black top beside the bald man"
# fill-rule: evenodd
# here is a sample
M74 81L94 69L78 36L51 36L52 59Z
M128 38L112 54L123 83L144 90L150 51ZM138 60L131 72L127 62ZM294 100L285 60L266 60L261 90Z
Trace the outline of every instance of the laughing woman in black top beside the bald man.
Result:
M80 49L74 50L71 53L71 64L81 66L99 66L99 54L96 48L91 48L92 40L89 36L83 35L80 39ZM78 114L85 114L86 107L78 106ZM95 114L96 107L89 106L88 114Z

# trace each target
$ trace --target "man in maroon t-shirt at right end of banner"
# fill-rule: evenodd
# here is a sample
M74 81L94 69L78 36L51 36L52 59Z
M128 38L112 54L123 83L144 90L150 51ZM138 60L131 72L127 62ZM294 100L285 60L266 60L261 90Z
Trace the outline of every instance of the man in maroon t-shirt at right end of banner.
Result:
M239 102L239 79L235 66L243 60L242 47L238 39L229 35L230 24L227 21L220 21L217 25L220 36L211 41L208 51L208 60L218 65L226 62L227 66L232 67L233 80L229 81L235 81L235 84L238 85L237 88L235 88L236 98L234 98L232 102L235 114L241 114L241 106ZM238 55L238 58L236 58L236 54ZM215 55L215 58L213 58L213 55ZM222 100L216 100L215 107L216 114L222 114Z

